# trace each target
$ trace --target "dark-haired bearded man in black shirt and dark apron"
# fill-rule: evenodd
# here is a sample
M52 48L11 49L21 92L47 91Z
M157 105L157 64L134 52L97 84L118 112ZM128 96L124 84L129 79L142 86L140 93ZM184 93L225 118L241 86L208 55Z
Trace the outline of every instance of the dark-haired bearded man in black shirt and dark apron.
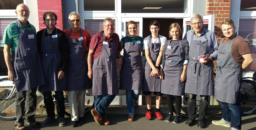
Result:
M54 12L44 13L43 19L46 28L37 32L37 47L45 79L45 85L40 86L39 90L44 94L47 118L41 123L41 126L47 126L55 120L52 91L54 91L57 100L59 126L65 126L63 91L67 89L67 77L64 72L67 66L66 50L68 43L65 33L55 27L57 15Z

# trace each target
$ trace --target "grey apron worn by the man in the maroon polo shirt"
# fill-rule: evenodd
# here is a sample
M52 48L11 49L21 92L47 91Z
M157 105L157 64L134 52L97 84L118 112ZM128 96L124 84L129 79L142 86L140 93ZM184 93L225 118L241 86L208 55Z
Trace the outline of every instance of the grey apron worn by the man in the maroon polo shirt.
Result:
M92 70L92 95L116 95L118 94L118 83L116 74L116 44L103 44L100 56L93 60ZM106 42L103 32L103 42Z

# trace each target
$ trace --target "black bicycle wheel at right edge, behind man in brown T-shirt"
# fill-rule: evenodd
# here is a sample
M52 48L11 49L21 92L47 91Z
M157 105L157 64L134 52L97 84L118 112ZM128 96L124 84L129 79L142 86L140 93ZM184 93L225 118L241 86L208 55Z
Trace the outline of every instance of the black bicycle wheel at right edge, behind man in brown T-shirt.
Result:
M239 94L242 115L252 114L256 110L256 85L252 80L243 80Z

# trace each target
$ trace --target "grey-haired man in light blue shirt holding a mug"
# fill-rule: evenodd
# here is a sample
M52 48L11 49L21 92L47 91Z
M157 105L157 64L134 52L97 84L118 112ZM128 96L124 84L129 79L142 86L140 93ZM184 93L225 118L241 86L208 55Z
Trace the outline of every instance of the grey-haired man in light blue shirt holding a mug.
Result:
M214 95L213 62L217 59L218 41L212 31L202 29L203 15L194 13L190 19L189 30L184 39L189 44L189 63L185 93L188 93L187 126L192 126L196 119L196 95L200 95L199 117L197 127L204 128L209 96ZM198 60L198 56L205 56Z

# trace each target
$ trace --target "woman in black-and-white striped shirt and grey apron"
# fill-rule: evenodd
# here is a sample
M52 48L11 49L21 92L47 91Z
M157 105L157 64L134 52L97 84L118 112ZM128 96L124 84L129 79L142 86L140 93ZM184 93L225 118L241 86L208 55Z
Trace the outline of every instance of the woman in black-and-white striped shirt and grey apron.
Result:
M181 40L181 29L178 23L169 27L169 37L164 44L163 56L160 63L161 93L167 94L169 114L165 121L173 119L173 96L176 101L176 116L173 123L180 123L181 96L185 94L185 77L188 65L189 45L187 40Z

